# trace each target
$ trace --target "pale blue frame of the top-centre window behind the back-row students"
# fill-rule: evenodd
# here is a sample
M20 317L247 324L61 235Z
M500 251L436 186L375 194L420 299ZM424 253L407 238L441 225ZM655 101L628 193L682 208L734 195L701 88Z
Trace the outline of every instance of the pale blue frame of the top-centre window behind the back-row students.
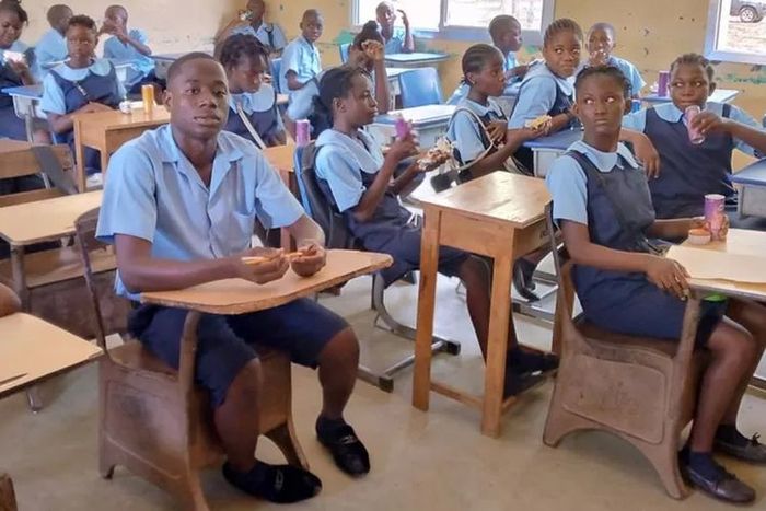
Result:
M415 28L413 30L413 36L420 39L448 39L448 40L489 40L489 33L486 27L479 26L460 26L460 25L444 25L444 20L446 20L446 8L450 0L439 0L440 1L440 12L439 12L439 28L428 30L428 28ZM713 0L716 1L716 0ZM352 31L358 32L361 30L361 25L357 23L359 19L359 0L351 0L350 9L350 20L349 25ZM524 39L524 45L531 46L542 46L543 45L543 32L545 27L554 21L554 11L556 9L556 0L543 0L543 15L542 15L542 27L539 31L522 31L522 38Z

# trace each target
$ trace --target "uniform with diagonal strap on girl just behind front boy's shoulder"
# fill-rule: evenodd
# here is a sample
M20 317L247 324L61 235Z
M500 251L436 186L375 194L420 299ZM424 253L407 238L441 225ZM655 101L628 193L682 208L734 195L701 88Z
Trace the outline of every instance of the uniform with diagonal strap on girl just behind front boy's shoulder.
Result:
M267 83L260 85L257 92L231 94L229 96L229 119L223 128L227 131L244 137L253 142L253 137L239 114L245 114L266 146L276 146L277 137L285 131L282 116L277 107L277 91Z

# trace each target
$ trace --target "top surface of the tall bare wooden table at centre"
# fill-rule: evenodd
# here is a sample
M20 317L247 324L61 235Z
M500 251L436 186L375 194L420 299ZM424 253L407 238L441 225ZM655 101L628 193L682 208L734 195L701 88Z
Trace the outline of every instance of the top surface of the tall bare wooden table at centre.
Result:
M543 179L492 172L421 201L426 208L437 207L478 220L525 228L545 217L550 195Z

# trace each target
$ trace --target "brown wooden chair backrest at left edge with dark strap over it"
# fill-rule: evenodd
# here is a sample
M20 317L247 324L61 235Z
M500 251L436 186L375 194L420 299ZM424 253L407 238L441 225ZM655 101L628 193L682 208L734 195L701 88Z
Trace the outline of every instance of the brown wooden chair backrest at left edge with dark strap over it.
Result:
M55 165L58 163L58 167ZM55 188L46 188L39 174L51 174ZM71 193L71 172L74 162L68 146L35 147L9 151L0 158L0 208L34 200L50 199ZM8 179L8 181L4 181ZM68 179L68 181L67 181Z

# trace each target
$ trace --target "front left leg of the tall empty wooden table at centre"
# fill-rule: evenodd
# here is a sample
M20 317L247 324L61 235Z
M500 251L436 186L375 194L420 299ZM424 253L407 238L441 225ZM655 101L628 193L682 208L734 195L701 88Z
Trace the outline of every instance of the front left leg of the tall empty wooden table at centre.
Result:
M440 224L441 213L427 209L420 244L420 289L415 336L415 374L413 376L413 406L423 411L428 410L429 393L431 392L431 342L437 269L439 267Z

